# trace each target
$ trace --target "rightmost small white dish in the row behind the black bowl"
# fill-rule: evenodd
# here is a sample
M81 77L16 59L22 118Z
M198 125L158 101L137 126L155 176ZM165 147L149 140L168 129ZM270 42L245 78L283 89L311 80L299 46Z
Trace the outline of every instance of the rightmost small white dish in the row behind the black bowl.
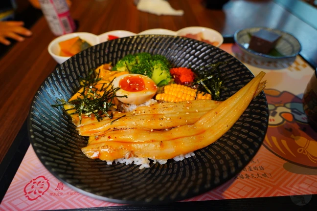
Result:
M183 37L186 34L198 34L200 32L203 32L204 40L208 40L210 42L218 42L218 45L215 45L216 47L219 47L224 42L224 38L219 32L201 26L182 28L176 32L176 35Z

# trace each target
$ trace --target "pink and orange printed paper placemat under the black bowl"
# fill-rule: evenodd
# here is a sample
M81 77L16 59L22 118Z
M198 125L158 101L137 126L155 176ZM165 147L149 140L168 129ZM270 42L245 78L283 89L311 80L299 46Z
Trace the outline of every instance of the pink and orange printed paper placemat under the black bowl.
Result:
M293 60L260 62L243 54L234 44L223 44L221 48L243 62L254 75L261 70L267 73L264 80L267 80L269 128L259 152L235 178L184 201L317 194L317 133L307 124L301 105L313 68L300 56ZM118 205L68 188L45 169L30 146L0 204L0 211Z

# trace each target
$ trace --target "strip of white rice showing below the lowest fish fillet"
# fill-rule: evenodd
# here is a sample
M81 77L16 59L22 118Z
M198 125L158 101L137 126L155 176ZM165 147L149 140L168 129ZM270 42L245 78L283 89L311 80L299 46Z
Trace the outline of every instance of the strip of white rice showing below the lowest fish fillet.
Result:
M195 156L194 152L189 152L187 154L184 155L179 155L176 156L175 158L173 158L175 161L182 161L185 158L189 158L191 156ZM106 160L108 165L112 165L113 161L115 164L120 163L120 164L125 164L125 165L129 165L129 164L135 164L135 165L140 165L139 169L144 169L144 168L150 168L150 160L153 160L153 163L159 163L159 164L166 164L167 160L157 160L157 159L152 159L152 158L138 158L138 157L131 157L131 158L120 158L120 159L116 159L116 160Z

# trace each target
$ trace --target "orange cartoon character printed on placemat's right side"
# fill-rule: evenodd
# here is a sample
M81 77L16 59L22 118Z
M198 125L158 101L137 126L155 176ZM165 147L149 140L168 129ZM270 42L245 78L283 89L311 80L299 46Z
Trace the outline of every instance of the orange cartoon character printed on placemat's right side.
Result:
M265 93L270 117L264 146L290 163L317 169L317 133L308 125L301 99L287 91Z

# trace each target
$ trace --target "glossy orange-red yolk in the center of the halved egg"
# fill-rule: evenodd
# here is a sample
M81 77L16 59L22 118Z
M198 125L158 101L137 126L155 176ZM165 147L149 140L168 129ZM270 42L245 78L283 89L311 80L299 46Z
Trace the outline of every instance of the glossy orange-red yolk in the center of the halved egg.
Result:
M137 92L145 89L145 83L139 76L126 76L120 80L119 87L126 91Z

